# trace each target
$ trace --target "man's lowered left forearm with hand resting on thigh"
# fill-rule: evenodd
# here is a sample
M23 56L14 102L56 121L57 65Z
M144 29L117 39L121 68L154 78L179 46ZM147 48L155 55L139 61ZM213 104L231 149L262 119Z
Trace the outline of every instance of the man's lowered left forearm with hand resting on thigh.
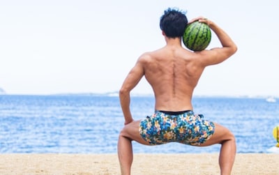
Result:
M133 121L133 117L130 112L130 92L119 91L119 99L120 99L123 116L125 119L125 124L128 124Z

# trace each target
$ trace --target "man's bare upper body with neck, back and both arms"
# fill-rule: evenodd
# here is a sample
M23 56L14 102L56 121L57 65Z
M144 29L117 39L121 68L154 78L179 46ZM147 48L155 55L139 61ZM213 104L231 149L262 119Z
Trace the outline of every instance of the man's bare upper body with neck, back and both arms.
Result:
M221 63L237 50L231 38L210 20L206 22L220 40L222 47L201 52L190 52L181 45L181 37L168 38L163 32L167 45L140 56L123 82L119 91L121 108L126 123L133 121L130 113L130 91L146 77L156 98L155 109L172 112L193 110L192 96L195 86L206 66ZM195 21L195 20L193 20Z

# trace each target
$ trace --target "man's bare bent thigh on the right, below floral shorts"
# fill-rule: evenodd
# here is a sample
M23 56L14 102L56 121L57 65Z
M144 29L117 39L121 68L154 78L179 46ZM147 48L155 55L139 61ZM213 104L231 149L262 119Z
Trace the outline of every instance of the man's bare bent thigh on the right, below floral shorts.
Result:
M234 135L223 125L214 123L215 131L210 139L208 139L204 144L199 146L210 146L212 144L221 144L225 140L234 139Z

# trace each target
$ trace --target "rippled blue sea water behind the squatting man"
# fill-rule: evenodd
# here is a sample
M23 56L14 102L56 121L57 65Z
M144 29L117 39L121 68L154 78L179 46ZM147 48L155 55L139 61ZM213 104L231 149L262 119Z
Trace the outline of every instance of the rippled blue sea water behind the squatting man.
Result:
M135 120L153 113L151 96L133 96ZM232 130L237 153L269 153L276 145L278 102L265 98L195 97L194 112ZM123 116L116 96L0 96L0 153L117 153ZM218 153L206 147L169 143L143 146L134 153ZM279 149L279 148L278 148Z

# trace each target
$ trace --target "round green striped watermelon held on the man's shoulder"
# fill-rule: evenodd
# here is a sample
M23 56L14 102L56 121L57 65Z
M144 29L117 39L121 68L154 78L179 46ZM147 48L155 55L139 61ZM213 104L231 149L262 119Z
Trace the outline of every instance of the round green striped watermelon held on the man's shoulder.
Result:
M211 30L207 24L196 21L186 26L183 33L183 43L189 50L205 50L210 41Z

